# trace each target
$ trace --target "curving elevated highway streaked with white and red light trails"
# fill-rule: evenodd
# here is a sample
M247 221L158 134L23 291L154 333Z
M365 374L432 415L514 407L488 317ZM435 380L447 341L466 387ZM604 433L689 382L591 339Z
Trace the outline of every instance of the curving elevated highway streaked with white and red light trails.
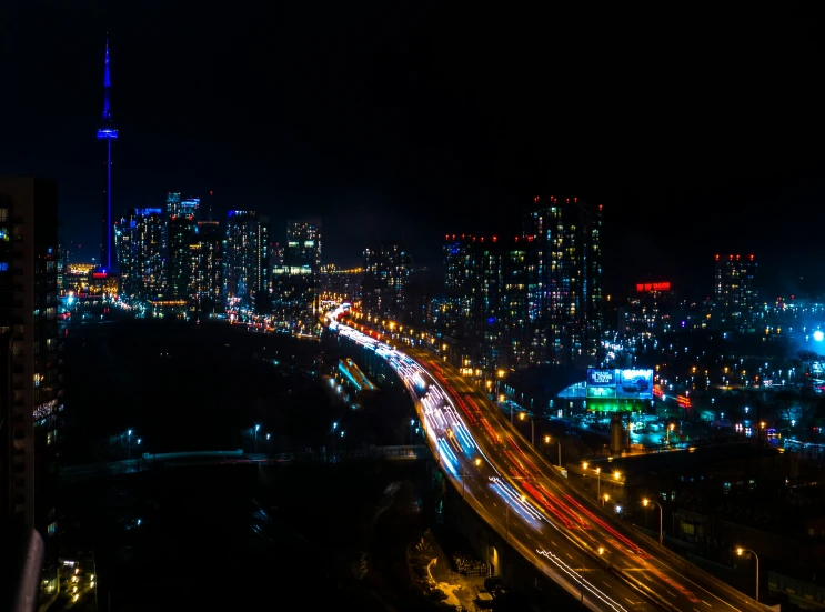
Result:
M443 359L344 324L341 313L328 314L330 331L398 373L415 401L427 447L464 501L505 545L584 605L605 612L768 610L582 495ZM491 549L491 564L500 565Z

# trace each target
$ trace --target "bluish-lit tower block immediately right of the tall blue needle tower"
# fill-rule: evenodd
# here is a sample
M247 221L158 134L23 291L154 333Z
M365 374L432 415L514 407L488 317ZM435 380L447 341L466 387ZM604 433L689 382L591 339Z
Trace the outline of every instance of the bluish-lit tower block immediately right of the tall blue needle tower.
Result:
M165 290L163 209L131 209L115 225L120 293L130 300L157 299Z

